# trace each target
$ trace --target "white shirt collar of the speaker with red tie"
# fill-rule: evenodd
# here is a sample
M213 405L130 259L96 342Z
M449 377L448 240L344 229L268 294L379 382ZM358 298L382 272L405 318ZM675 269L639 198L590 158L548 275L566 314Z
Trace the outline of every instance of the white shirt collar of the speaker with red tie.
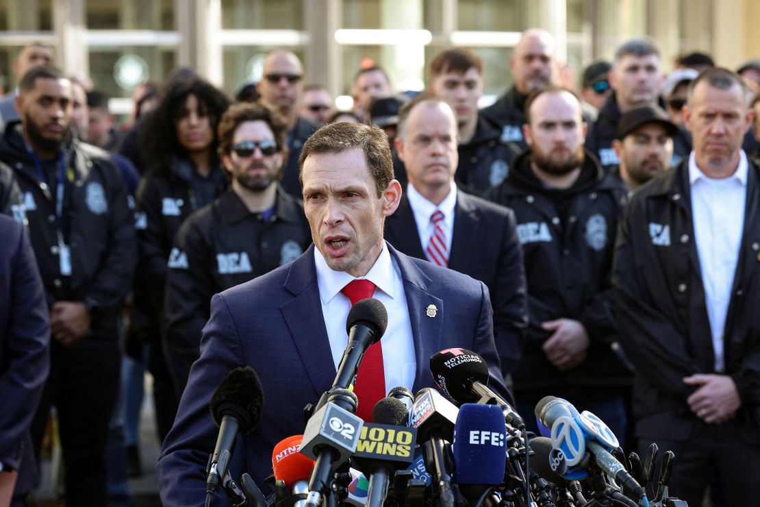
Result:
M319 249L314 249L314 262L317 269L317 286L319 288L319 298L323 305L329 303L337 293L340 293L353 280L366 280L375 284L379 290L388 294L391 299L396 297L394 285L394 267L391 259L391 252L388 252L388 246L385 241L382 244L382 250L378 260L369 269L365 277L354 278L346 271L333 271Z

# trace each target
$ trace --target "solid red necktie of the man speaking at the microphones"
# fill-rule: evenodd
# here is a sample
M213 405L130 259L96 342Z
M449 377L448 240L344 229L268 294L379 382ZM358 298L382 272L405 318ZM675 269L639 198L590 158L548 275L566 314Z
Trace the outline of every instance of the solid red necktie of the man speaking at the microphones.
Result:
M347 296L351 306L354 306L356 302L372 297L375 284L369 280L353 280L340 292ZM379 341L370 345L364 353L353 392L356 398L359 398L356 415L366 422L372 421L372 409L378 401L385 398L385 369L382 365L382 347Z

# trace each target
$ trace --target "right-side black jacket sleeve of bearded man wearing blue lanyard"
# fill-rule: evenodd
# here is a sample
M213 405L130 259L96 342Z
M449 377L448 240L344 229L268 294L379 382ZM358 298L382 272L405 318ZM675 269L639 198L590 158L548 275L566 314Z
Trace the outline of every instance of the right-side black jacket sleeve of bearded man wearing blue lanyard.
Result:
M116 166L104 162L109 174L103 177L109 182L109 238L107 253L85 293L84 304L106 312L118 310L131 288L135 270L135 214L129 209L127 187Z

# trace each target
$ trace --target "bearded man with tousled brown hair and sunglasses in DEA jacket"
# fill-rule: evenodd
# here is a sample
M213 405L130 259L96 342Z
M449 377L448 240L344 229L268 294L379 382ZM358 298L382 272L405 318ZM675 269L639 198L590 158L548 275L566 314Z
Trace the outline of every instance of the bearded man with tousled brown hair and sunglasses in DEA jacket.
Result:
M166 280L166 339L185 360L200 355L211 296L293 261L311 243L300 201L279 185L287 159L284 119L266 106L237 103L219 123L219 157L232 184L190 215L174 240Z

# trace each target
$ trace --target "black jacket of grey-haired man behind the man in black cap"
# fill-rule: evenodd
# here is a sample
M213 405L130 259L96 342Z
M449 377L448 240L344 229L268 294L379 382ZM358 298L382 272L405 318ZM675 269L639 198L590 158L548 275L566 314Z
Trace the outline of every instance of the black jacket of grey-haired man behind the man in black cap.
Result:
M665 102L662 97L660 97L657 105L665 109ZM620 163L613 149L613 141L617 139L617 126L621 118L622 112L620 112L617 96L613 90L613 93L610 93L610 97L607 97L602 109L600 109L597 121L589 126L586 135L586 149L600 160L605 171L609 171L613 166ZM678 133L673 136L673 158L670 159L670 165L675 166L691 151L692 137L689 132L679 127Z

